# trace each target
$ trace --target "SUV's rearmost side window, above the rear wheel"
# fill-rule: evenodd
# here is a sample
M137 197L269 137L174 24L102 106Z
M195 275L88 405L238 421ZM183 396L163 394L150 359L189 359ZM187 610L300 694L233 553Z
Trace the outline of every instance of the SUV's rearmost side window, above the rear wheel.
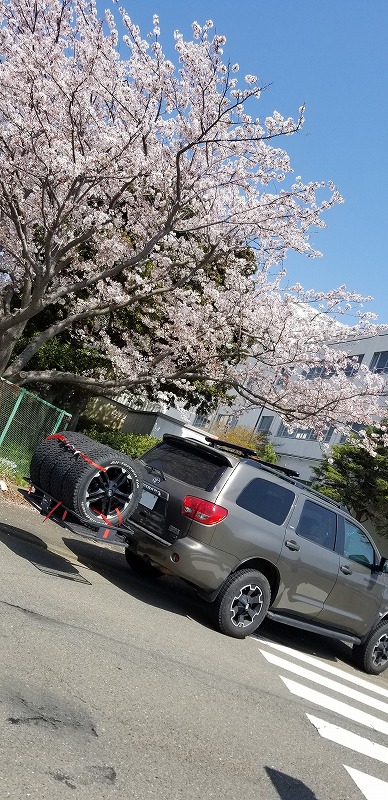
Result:
M272 481L254 478L236 500L236 505L258 517L282 525L294 502L295 493Z

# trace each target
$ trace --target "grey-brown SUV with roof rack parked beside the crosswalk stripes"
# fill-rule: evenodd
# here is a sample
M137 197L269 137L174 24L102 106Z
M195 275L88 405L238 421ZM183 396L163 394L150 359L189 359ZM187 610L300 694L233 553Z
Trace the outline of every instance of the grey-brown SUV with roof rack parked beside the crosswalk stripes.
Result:
M196 587L229 636L268 617L353 643L367 672L388 666L388 564L344 507L210 437L166 435L135 463L143 494L126 522L133 569Z

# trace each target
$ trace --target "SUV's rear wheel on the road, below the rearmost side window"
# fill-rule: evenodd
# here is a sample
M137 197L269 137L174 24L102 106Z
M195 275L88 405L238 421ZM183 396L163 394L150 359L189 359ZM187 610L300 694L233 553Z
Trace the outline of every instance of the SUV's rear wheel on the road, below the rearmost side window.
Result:
M270 585L261 572L255 569L234 572L214 601L218 629L235 639L245 639L261 625L270 600Z

